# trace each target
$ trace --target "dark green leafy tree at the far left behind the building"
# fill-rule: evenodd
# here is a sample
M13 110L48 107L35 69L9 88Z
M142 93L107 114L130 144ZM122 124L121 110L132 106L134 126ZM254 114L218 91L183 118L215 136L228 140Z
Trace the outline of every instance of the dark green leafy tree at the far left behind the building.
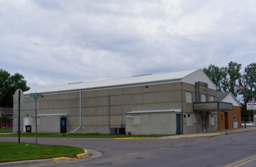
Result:
M24 76L19 73L10 75L8 71L0 69L0 106L12 108L13 95L17 89L24 92L30 90Z

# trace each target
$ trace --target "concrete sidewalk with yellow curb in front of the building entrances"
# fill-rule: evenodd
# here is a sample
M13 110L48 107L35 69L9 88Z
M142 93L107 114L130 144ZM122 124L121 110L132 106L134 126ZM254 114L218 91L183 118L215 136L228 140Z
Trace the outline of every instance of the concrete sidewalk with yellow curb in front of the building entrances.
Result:
M234 129L225 129L225 130L218 130L215 132L205 132L205 133L197 133L197 134L181 134L181 135L173 135L173 136L164 136L158 139L178 139L178 138L196 138L196 137L206 137L206 136L217 136L222 134L231 134L231 133L238 133L238 132L247 132L249 130L256 130L256 127L247 126L246 128L234 128Z

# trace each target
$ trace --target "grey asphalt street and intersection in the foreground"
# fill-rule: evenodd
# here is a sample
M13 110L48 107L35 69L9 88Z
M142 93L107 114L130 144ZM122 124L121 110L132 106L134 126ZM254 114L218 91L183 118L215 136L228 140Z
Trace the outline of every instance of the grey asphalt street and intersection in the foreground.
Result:
M18 142L18 138L0 138L0 141ZM179 139L38 138L38 144L81 147L101 152L102 156L33 166L256 166L255 141L256 130ZM21 138L21 142L35 139Z

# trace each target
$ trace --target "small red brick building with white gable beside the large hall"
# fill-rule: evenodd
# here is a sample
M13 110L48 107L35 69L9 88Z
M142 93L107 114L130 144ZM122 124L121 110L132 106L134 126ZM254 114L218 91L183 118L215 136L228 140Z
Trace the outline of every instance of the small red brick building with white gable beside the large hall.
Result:
M232 111L218 111L218 130L241 128L241 104L230 92L217 93L219 102L228 102L233 104Z

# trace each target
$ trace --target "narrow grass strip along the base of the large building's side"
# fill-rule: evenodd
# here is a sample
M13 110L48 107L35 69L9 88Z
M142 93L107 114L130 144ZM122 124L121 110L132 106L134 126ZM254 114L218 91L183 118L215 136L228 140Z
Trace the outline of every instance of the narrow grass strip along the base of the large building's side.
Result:
M2 134L0 137L18 137L19 134ZM110 134L65 134L65 138L159 138L170 135L110 135ZM20 133L22 138L36 138L36 133ZM63 134L37 133L38 138L63 138Z

